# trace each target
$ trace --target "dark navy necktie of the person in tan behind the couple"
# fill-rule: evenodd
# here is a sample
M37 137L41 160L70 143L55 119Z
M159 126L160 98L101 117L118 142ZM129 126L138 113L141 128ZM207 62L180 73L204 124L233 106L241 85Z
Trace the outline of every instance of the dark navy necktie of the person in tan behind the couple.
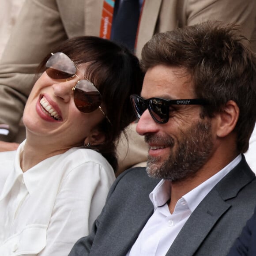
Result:
M116 1L110 39L134 50L139 22L139 0Z

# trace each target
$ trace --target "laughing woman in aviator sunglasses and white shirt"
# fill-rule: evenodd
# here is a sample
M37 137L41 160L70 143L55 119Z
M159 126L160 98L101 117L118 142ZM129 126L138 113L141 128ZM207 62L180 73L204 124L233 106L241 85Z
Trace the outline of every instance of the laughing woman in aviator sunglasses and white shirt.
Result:
M64 256L89 230L117 169L115 143L135 120L143 73L126 48L65 41L41 64L23 115L26 140L0 153L0 255Z

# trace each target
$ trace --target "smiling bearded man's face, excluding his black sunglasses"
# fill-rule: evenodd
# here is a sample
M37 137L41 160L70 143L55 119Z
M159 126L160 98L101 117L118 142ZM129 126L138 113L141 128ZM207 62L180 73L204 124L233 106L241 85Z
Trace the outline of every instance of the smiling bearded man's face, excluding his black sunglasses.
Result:
M147 71L141 97L196 98L190 76L184 69L158 65ZM209 159L212 148L211 120L200 117L200 105L171 105L169 121L156 123L148 109L136 131L149 144L147 173L169 181L193 177Z

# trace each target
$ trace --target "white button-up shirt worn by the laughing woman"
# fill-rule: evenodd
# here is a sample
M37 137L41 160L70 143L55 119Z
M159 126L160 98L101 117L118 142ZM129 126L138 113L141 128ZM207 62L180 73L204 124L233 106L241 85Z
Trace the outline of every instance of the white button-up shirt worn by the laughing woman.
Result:
M0 153L0 256L65 256L86 236L115 179L98 152L72 148L23 173L17 151Z

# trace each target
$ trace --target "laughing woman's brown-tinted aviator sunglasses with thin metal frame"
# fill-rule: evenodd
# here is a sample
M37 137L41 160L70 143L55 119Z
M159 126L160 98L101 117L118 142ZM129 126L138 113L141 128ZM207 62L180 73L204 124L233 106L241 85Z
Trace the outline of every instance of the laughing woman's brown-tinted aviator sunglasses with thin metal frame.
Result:
M66 79L68 81L74 76L78 77L79 81L72 88L77 109L83 113L91 113L99 108L111 124L109 118L100 106L102 104L102 95L88 79L80 79L79 76L75 74L79 69L66 54L52 53L52 56L45 64L45 68L46 74L56 80Z

